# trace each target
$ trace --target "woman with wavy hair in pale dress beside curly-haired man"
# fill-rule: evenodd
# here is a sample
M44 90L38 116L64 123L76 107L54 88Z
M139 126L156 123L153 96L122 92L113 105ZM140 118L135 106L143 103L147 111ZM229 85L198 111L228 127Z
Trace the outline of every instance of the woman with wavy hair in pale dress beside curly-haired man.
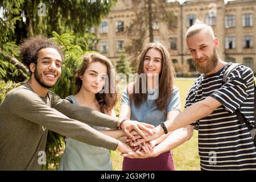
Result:
M115 72L111 61L99 53L85 54L75 75L76 94L67 99L75 105L115 116L117 103ZM106 130L91 126L113 138L123 137L122 130ZM78 140L66 139L59 170L112 170L109 150L90 146Z

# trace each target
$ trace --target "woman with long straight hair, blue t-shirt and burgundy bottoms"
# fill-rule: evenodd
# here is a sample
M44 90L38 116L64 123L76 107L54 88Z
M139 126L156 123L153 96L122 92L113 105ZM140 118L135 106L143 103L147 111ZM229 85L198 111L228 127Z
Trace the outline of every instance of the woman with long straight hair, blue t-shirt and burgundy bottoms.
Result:
M175 71L168 49L161 43L146 44L137 57L137 62L138 76L123 91L120 117L154 126L173 120L180 113L180 97L179 90L174 86ZM124 158L123 170L175 170L171 146L168 145L169 135L142 143L137 150L151 158ZM133 143L131 140L127 142ZM134 154L134 158L140 156Z

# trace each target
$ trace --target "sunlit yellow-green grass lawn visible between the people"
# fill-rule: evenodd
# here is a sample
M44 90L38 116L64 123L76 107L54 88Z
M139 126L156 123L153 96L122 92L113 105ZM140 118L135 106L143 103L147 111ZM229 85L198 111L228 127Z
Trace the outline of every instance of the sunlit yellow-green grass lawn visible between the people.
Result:
M185 105L185 97L187 95L188 89L192 85L194 79L176 79L175 85L180 90L180 102L181 110L183 110ZM117 108L119 110L119 108ZM174 163L176 170L200 170L200 161L197 148L197 131L194 131L193 137L181 144L181 146L176 147L172 150L174 154ZM113 163L113 169L122 170L122 160L123 157L120 155L119 151L111 151L111 158Z

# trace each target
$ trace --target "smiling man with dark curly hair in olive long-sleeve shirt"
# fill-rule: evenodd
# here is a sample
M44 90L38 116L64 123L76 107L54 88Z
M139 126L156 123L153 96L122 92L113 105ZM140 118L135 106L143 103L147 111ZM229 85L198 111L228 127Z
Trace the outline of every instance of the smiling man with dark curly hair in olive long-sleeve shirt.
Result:
M39 158L46 148L48 129L93 146L117 148L123 153L131 148L85 123L113 129L122 127L131 138L131 130L143 137L141 130L151 133L150 125L75 106L49 91L59 80L63 64L63 53L51 40L42 36L27 39L20 52L31 77L7 93L0 105L0 170L40 170Z

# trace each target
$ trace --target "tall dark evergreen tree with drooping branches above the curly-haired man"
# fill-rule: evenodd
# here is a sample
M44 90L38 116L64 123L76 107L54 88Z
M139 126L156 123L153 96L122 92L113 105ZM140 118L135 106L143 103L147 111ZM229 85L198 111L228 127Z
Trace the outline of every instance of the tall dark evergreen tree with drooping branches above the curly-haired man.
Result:
M51 36L75 32L75 44L84 50L93 47L95 36L89 28L108 15L116 0L2 0L0 1L0 78L27 80L27 70L19 67L16 44L34 35ZM15 44L16 43L16 44ZM15 65L15 66L14 66Z

